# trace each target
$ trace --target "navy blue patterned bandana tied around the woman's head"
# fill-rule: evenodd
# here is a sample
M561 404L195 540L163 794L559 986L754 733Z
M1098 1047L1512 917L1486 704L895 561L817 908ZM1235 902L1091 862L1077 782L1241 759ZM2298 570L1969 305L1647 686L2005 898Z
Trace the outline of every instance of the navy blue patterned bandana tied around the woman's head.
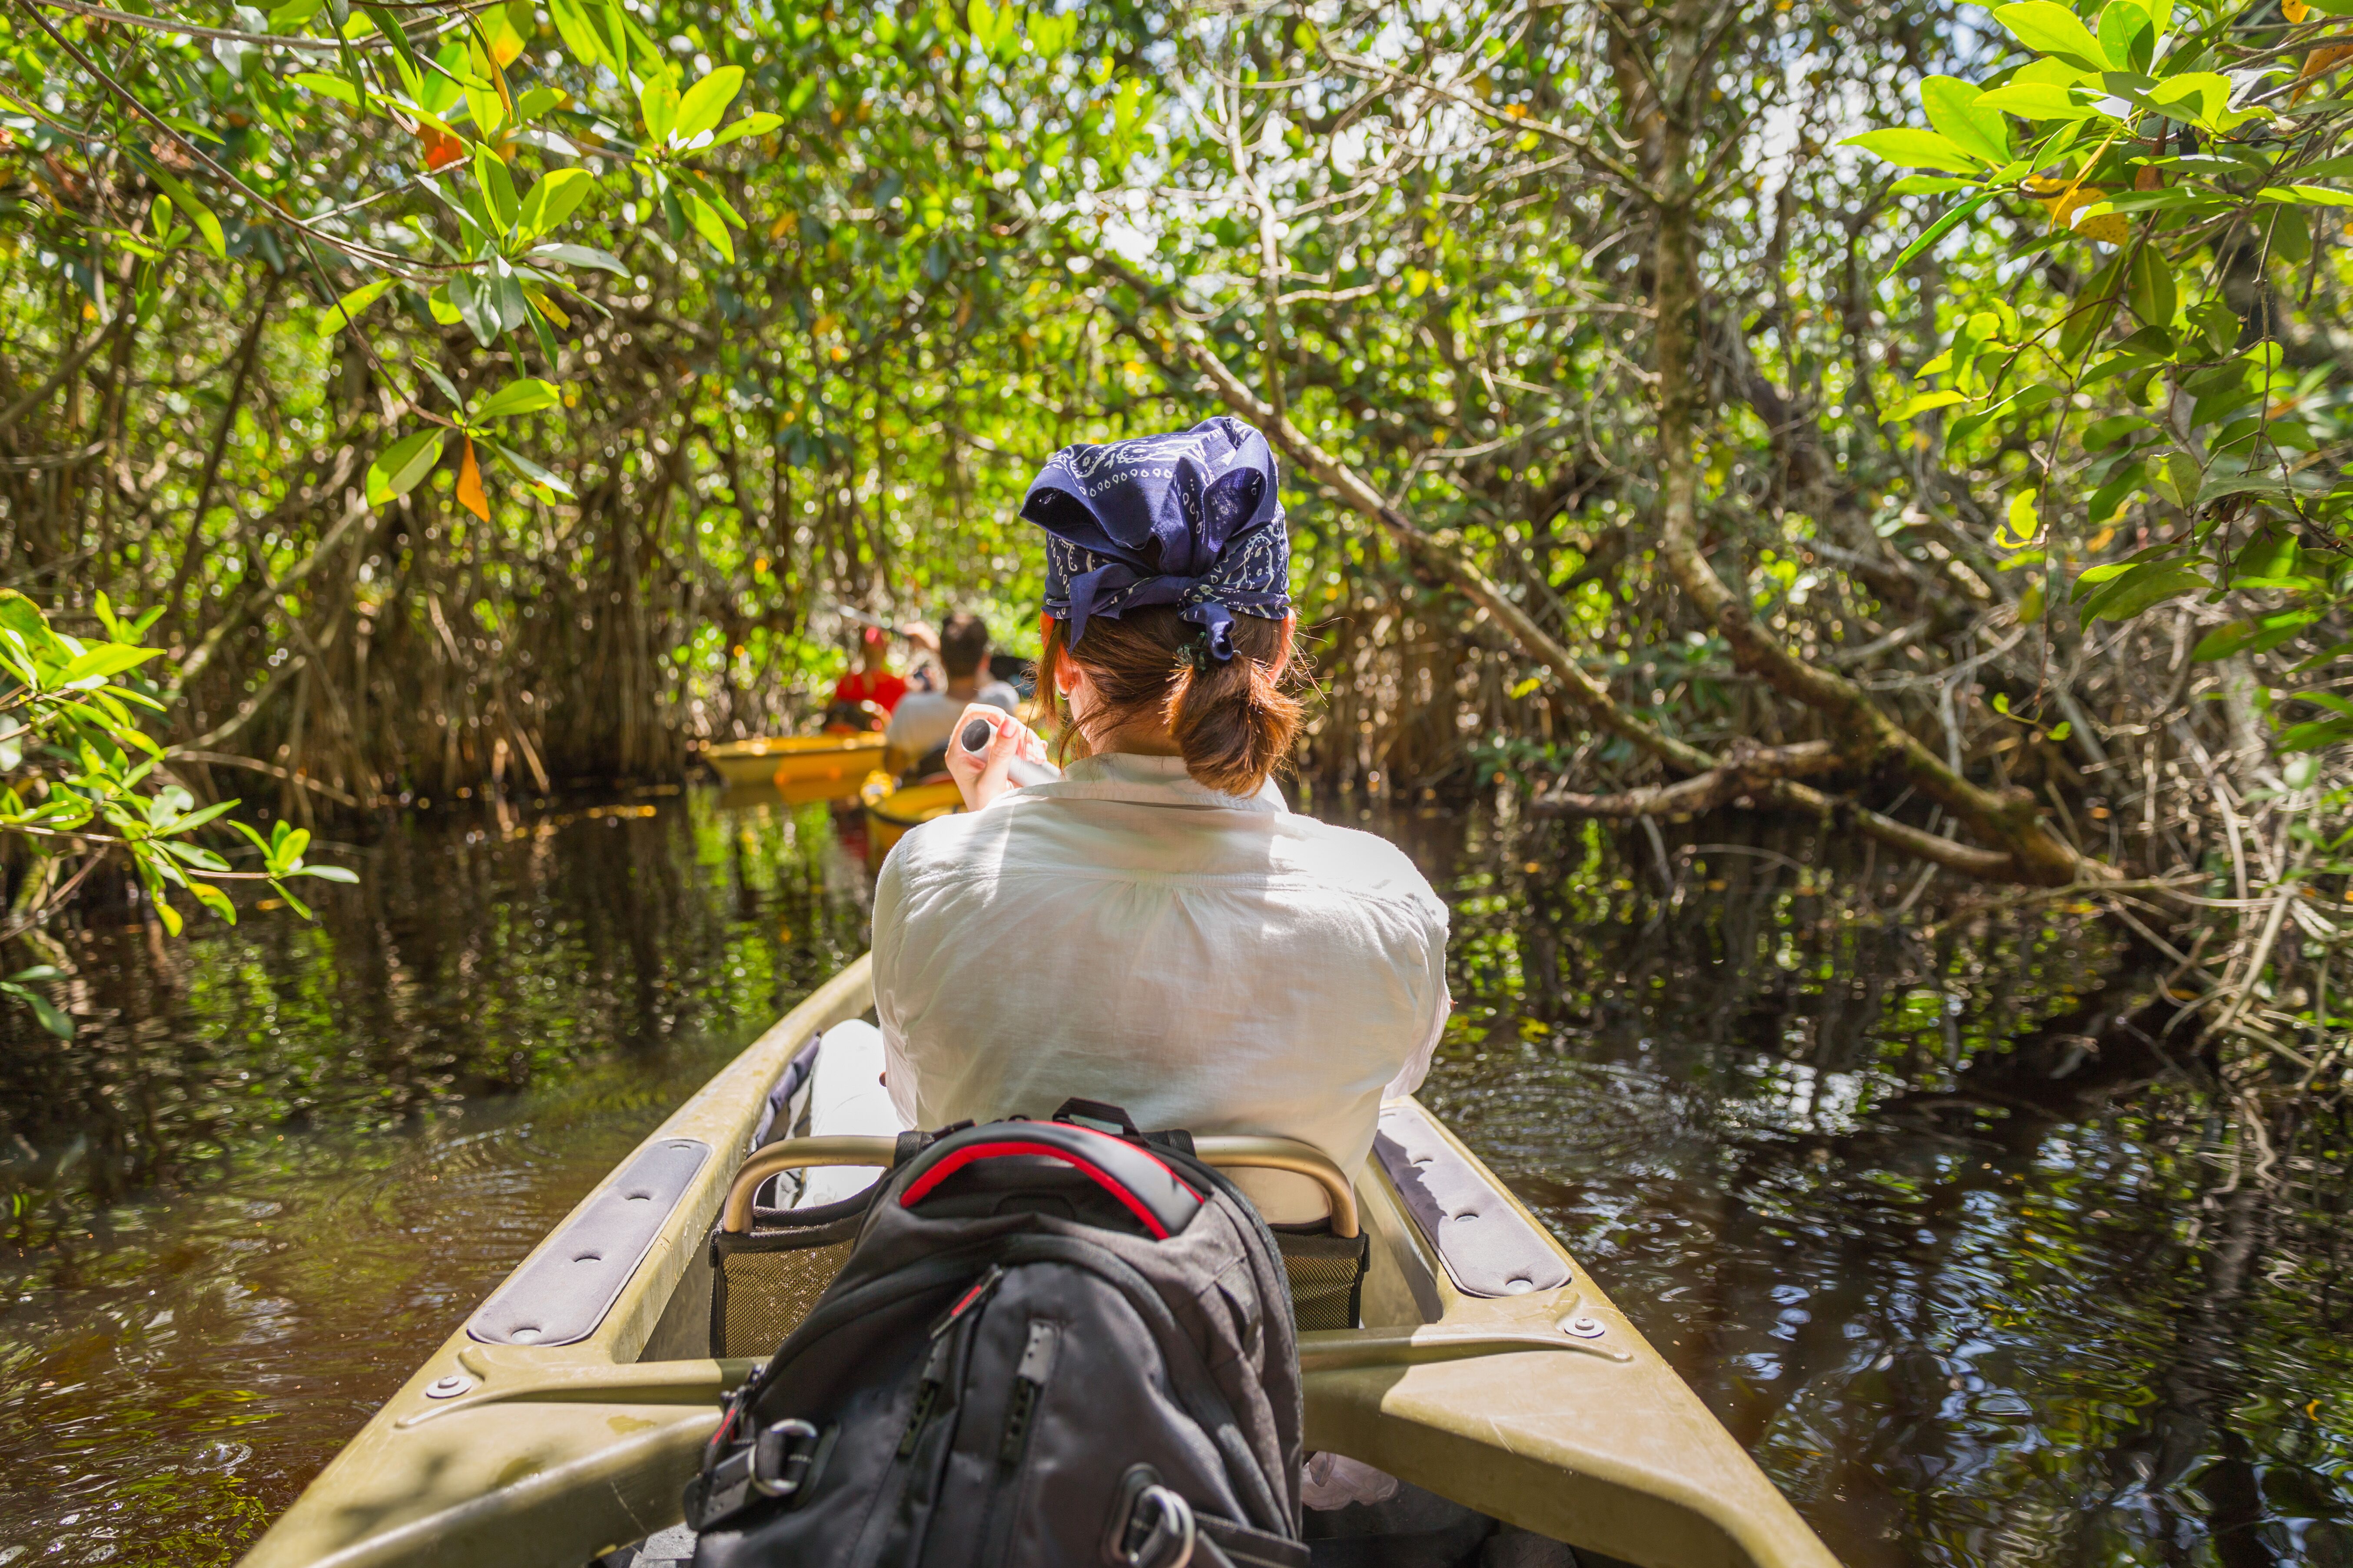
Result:
M1292 538L1275 454L1240 418L1108 447L1064 447L1021 498L1045 529L1045 611L1071 623L1174 604L1209 654L1233 658L1233 611L1280 621L1292 607Z

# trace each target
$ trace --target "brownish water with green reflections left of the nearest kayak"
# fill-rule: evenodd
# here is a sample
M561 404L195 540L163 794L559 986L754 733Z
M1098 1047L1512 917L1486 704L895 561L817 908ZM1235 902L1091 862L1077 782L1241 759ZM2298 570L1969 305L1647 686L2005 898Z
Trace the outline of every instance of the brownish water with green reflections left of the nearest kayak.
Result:
M233 1559L859 898L824 806L652 797L405 823L318 926L80 938L82 1039L0 1044L0 1561Z

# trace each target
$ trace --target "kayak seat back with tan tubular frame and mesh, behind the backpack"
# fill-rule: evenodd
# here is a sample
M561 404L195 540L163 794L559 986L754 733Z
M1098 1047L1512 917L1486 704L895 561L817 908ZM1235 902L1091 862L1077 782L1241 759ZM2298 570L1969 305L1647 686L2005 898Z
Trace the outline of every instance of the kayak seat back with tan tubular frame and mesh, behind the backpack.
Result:
M1212 1166L1257 1166L1308 1175L1332 1213L1313 1225L1275 1225L1299 1328L1355 1328L1372 1239L1358 1229L1348 1178L1325 1154L1287 1138L1202 1138ZM711 1354L765 1356L826 1293L866 1220L873 1187L838 1204L769 1208L760 1194L779 1171L807 1166L889 1166L889 1138L784 1138L736 1171L711 1232Z

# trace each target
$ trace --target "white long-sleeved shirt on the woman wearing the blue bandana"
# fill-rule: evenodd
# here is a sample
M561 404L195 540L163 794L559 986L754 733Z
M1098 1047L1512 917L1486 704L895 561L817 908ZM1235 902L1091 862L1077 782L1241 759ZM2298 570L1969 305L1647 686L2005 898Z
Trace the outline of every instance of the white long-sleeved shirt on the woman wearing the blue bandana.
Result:
M1299 1138L1351 1175L1449 1006L1447 910L1405 853L1273 783L1207 790L1179 757L1087 757L913 827L873 950L908 1126L1085 1095L1144 1128ZM1304 1178L1235 1178L1268 1220L1325 1213Z

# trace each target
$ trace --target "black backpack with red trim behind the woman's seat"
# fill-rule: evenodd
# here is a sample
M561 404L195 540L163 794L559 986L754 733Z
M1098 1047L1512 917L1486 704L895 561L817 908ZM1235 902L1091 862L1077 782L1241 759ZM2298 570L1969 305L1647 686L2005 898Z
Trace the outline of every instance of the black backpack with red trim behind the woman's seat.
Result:
M1282 1258L1188 1135L911 1133L864 1206L687 1483L696 1568L1306 1568Z

